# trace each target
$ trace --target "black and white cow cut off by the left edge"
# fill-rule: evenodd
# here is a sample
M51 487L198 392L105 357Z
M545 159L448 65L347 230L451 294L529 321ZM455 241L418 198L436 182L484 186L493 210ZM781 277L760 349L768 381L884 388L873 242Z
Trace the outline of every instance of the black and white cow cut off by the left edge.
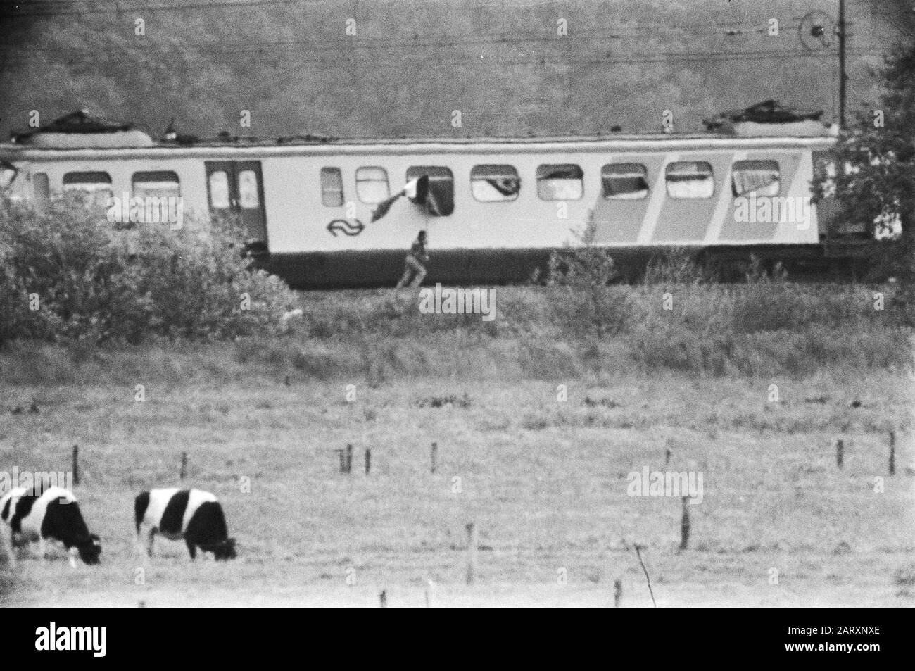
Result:
M89 533L73 492L62 487L48 487L40 494L16 487L0 499L0 519L8 526L9 561L16 563L14 547L38 541L41 557L45 542L59 541L70 553L70 566L76 566L79 554L86 564L98 564L102 554L99 536Z

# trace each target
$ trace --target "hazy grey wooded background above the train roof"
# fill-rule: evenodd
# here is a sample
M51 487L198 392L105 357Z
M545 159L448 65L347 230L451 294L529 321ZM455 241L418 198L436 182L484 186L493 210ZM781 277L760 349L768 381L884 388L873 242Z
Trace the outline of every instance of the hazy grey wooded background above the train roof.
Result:
M192 135L262 137L641 133L658 132L664 110L697 130L769 98L827 119L835 109L834 53L798 38L796 17L822 9L813 0L41 5L0 8L4 137L32 110L46 124L80 108L156 136L175 116ZM880 32L892 17L861 5L852 106L893 42Z

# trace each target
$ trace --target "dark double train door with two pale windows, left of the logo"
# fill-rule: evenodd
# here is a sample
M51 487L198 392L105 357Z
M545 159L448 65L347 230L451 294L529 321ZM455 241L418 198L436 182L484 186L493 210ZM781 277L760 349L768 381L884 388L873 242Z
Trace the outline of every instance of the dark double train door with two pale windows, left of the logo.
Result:
M248 243L267 243L260 161L205 161L210 213L238 217Z

